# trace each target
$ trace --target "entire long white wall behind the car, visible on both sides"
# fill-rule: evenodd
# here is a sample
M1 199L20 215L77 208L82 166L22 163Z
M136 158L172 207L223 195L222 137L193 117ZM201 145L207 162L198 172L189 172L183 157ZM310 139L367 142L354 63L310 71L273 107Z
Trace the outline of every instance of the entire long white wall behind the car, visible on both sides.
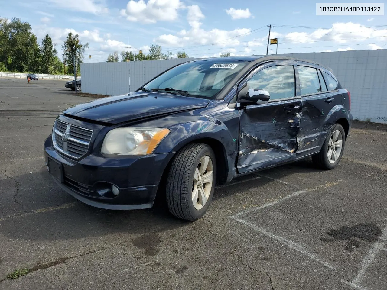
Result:
M351 93L355 119L387 123L387 49L286 54L332 68ZM125 94L152 77L193 58L118 63L82 63L82 92L108 96ZM129 86L130 69L130 86Z

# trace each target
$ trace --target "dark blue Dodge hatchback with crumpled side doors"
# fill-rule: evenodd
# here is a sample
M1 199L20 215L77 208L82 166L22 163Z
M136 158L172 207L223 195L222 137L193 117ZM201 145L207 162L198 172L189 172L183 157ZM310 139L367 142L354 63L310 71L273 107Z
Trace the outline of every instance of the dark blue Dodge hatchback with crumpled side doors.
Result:
M195 220L218 184L312 156L333 169L352 123L350 94L317 63L210 58L135 92L68 108L44 143L57 184L100 208L149 208L163 194Z

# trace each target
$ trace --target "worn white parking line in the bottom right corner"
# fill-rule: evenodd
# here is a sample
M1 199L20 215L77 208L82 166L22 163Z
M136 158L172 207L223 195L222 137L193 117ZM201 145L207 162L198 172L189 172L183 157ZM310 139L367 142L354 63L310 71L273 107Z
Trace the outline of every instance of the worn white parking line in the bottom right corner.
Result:
M368 267L375 260L378 252L383 250L383 247L385 246L386 242L387 242L387 227L384 228L383 233L379 238L379 241L376 241L373 243L371 249L368 251L367 256L365 256L363 261L361 261L361 264L359 267L360 271L359 271L358 275L356 275L356 277L353 278L353 280L351 282L348 282L345 280L342 282L353 287L353 288L356 288L359 290L366 290L366 288L361 287L359 284L360 284L361 280L363 280L363 276L364 276L365 272L367 271Z

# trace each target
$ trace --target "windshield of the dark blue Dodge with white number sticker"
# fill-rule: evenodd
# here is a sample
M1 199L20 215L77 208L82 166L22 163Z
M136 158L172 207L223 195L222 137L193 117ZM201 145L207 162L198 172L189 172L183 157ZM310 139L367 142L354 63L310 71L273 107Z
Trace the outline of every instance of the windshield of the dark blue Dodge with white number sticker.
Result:
M183 63L144 85L144 89L168 91L172 94L183 91L187 96L214 99L246 63L246 61L235 60L202 60ZM166 88L168 90L161 90Z

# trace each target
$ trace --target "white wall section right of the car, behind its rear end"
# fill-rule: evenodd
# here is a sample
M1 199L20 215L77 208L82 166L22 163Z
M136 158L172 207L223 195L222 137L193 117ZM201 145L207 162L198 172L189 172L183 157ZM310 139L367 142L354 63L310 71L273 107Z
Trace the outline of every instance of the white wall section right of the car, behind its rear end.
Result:
M333 70L351 93L355 119L387 124L387 49L284 54L313 60Z

